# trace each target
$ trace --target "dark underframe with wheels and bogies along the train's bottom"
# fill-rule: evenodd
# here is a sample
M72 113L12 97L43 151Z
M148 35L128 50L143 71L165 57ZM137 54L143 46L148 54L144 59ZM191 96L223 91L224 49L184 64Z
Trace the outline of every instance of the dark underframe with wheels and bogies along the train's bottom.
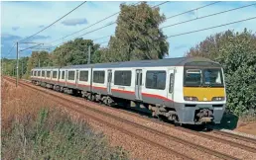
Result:
M129 106L131 109L143 111L146 113L151 113L153 118L173 121L176 125L182 125L185 123L197 124L197 125L214 124L214 121L213 121L214 114L213 114L213 110L210 108L199 108L194 111L189 111L189 112L187 111L188 113L190 113L190 117L193 117L188 122L188 121L185 121L185 119L183 118L184 110L179 111L179 110L176 110L175 108L167 108L160 105L146 104L140 101L130 101L126 99L111 97L108 95L101 95L97 93L72 89L72 88L55 85L47 82L40 82L37 80L33 80L32 83L45 88L53 89L57 92L63 92L65 94L82 97L86 100L101 103L106 106L119 106L119 107ZM193 115L192 115L192 112L194 113ZM179 118L182 118L182 120Z

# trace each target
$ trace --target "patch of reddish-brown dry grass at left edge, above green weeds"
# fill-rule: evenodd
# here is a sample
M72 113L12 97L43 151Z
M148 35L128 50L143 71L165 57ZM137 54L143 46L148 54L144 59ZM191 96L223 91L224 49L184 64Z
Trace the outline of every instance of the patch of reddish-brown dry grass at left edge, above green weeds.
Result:
M54 102L46 97L14 84L2 81L2 127L8 128L13 120L24 120L26 115L36 119L42 107L53 108Z

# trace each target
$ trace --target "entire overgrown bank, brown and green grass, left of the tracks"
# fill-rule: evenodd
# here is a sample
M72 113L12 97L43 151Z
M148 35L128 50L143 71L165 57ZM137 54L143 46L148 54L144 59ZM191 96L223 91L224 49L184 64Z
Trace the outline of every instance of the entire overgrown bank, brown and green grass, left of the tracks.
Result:
M3 159L128 159L83 120L46 97L2 83Z

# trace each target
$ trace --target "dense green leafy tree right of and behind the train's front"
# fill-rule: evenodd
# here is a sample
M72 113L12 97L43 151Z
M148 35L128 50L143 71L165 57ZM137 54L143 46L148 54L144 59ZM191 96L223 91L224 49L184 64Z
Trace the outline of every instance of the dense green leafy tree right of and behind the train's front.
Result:
M214 45L213 49L212 46ZM205 48L209 51L203 52ZM187 56L204 56L219 62L225 73L227 109L236 115L256 112L256 36L227 31L192 48Z

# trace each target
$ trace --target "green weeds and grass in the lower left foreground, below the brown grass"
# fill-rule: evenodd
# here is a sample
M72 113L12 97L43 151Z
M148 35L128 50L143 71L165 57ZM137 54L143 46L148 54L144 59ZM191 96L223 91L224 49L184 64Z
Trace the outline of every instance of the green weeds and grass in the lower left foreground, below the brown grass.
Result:
M82 120L43 109L37 118L27 115L2 130L3 159L128 159L120 147L94 133Z

